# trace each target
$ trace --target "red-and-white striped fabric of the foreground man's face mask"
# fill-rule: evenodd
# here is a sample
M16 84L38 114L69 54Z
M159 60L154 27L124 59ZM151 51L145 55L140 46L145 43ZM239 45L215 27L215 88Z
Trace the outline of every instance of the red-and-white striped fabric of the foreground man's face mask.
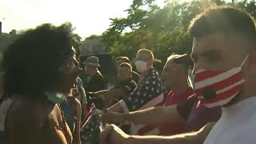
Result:
M242 90L243 82L241 72L238 71L234 74L231 73L233 75L226 75L228 72L232 71L203 70L202 72L195 74L195 93L198 96L198 99L202 99L202 103L212 104L211 107L218 106L218 103L216 102L225 102L227 98L233 97L238 93L239 90ZM218 79L219 82L209 83L211 80L214 80L214 78ZM237 86L234 85L236 82L239 82ZM202 84L202 88L197 88L198 83ZM230 87L232 85L233 87ZM207 88L213 90L216 93L214 98L202 97L204 90ZM228 89L225 90L226 88Z

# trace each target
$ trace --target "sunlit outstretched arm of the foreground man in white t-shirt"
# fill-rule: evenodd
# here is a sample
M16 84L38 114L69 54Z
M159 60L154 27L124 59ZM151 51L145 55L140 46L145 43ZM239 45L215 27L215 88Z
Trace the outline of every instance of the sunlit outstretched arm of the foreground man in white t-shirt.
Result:
M102 144L106 143L106 139L110 140L112 144L202 144L210 130L215 125L214 122L208 123L202 127L201 130L193 133L178 134L174 136L135 136L127 135L118 126L110 125L100 134ZM109 137L110 138L107 138Z

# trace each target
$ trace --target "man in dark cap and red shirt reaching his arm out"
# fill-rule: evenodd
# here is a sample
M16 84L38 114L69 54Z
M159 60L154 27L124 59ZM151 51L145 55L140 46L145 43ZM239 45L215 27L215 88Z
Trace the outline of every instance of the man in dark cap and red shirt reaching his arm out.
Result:
M172 54L167 58L162 72L165 86L170 89L166 100L162 105L148 110L138 110L129 114L118 114L107 112L102 115L105 122L134 122L146 124L138 130L139 135L159 134L181 134L188 131L196 131L208 122L216 122L220 118L219 107L206 108L195 98L194 91L188 85L187 71L193 66L190 55ZM176 110L178 115L172 114ZM158 119L154 119L158 115Z

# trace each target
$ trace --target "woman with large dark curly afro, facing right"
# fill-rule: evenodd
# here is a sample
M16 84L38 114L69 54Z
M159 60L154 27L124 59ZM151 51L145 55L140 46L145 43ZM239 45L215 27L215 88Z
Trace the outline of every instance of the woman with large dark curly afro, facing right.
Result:
M72 143L59 106L80 72L72 30L70 23L43 24L10 44L4 55L4 94L14 102L5 119L6 143Z

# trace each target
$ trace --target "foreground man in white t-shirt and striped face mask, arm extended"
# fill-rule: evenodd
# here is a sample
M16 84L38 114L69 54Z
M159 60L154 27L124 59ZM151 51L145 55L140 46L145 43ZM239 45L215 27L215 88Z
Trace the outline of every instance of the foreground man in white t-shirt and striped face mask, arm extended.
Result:
M211 8L194 18L189 33L194 38L191 86L204 106L222 106L222 117L210 133L202 134L199 130L169 137L142 137L124 134L112 125L102 133L102 143L105 142L106 134L111 134L112 143L126 144L256 142L254 18L232 7Z

